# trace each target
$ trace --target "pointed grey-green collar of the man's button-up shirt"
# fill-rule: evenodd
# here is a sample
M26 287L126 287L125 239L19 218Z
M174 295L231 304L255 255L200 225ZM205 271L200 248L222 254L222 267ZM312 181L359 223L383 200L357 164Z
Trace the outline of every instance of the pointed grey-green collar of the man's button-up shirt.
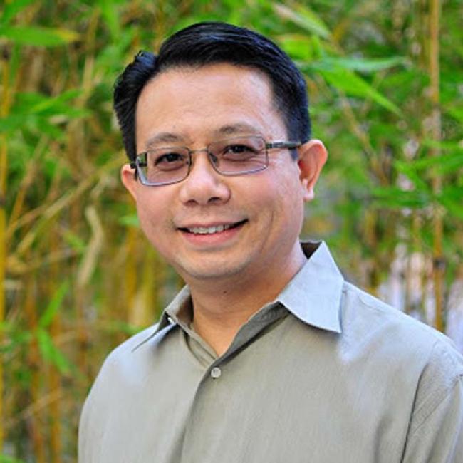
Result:
M341 333L343 276L324 241L301 241L301 246L308 260L275 302L308 325ZM156 333L173 323L185 328L185 318L191 318L191 304L189 287L184 286L162 313Z

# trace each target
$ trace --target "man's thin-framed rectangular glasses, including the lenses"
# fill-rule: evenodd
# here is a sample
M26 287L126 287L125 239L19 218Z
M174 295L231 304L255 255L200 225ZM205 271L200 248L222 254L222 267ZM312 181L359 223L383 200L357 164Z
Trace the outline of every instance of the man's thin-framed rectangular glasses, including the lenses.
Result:
M212 142L202 150L187 147L160 147L142 152L130 164L147 187L161 187L182 182L192 170L192 155L206 152L214 170L221 175L245 175L264 170L269 165L269 150L293 150L300 142L269 142L256 136L235 137Z

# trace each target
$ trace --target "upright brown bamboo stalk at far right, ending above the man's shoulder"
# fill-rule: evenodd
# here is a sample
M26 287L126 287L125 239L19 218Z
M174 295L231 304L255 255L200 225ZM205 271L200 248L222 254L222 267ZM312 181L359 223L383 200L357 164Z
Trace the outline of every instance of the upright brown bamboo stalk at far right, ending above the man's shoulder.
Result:
M439 0L430 0L430 78L431 91L430 100L432 104L432 139L435 142L441 140L441 114L439 108ZM437 157L440 155L438 145L433 147L430 155ZM432 192L439 195L442 192L442 177L435 173L432 175ZM434 281L435 296L435 327L439 331L444 331L444 272L445 261L442 253L443 240L443 210L439 204L435 204L432 216L433 245L432 245L432 276Z

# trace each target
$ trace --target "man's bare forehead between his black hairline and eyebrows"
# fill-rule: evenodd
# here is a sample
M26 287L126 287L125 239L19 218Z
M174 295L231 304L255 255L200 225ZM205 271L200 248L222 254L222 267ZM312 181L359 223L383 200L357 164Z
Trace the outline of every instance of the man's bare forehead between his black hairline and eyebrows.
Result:
M137 148L161 132L194 142L226 126L285 135L264 73L230 64L170 68L150 80L137 101Z

